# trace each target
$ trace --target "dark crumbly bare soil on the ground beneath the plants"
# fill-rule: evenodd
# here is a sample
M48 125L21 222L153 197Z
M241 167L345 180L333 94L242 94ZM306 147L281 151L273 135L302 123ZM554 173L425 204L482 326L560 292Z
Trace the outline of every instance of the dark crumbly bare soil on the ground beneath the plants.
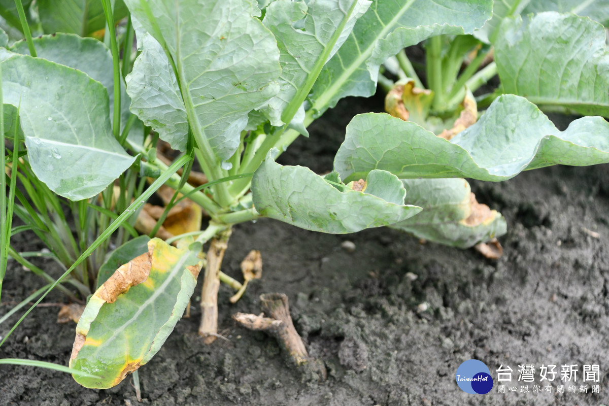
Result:
M378 100L377 100L378 102ZM370 100L350 99L310 128L281 158L317 172L332 156L353 114ZM473 183L479 201L504 214L505 254L489 261L392 229L347 236L312 233L273 220L237 226L223 270L235 277L251 249L262 251L263 278L237 304L220 288L220 332L228 339L203 345L199 306L181 320L166 345L139 370L146 405L599 405L609 382L609 165L551 167L503 183ZM40 243L18 234L18 248ZM340 244L356 246L349 253ZM39 262L52 275L60 271ZM18 302L40 279L15 262L3 301ZM197 290L199 290L197 288ZM236 327L235 312L259 312L258 296L283 292L311 355L323 360L328 379L317 382L286 363L278 344ZM195 297L198 293L195 293ZM59 293L47 303L65 301ZM12 305L3 303L0 315ZM58 307L36 309L0 358L66 365L74 324L56 324ZM16 317L0 326L4 335ZM479 359L496 379L509 365L512 382L487 395L461 391L457 367ZM519 365L535 365L535 382L518 382ZM558 365L550 393L541 365ZM600 365L600 382L582 382L583 365ZM561 365L577 365L576 393L557 394ZM68 374L21 366L0 367L0 405L136 405L132 379L111 390L88 390ZM588 386L580 393L580 386ZM591 385L599 385L593 393ZM521 387L529 385L529 393ZM510 387L517 391L510 392Z

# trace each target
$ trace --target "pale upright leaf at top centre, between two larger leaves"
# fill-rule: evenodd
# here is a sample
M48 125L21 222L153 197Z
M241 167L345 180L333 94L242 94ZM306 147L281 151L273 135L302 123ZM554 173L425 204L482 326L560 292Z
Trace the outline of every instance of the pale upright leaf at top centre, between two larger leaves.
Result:
M270 100L271 124L292 120L290 103L305 100L323 65L347 40L370 4L368 0L314 0L308 5L278 0L267 7L263 23L275 35L281 52L281 87Z

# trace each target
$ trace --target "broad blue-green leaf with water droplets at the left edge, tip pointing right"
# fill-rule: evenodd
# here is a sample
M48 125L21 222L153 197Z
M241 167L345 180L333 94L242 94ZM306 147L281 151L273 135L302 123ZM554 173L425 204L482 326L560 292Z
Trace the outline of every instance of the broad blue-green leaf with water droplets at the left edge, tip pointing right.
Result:
M111 133L101 83L41 58L4 51L2 59L4 102L20 105L29 162L52 191L90 198L131 166L135 158Z

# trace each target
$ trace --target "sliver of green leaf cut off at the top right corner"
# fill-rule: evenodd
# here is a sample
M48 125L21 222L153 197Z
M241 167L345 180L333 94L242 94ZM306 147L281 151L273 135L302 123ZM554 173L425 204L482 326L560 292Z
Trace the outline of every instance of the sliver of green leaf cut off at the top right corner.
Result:
M609 0L530 0L523 15L540 12L574 13L609 25ZM496 3L495 3L496 4Z

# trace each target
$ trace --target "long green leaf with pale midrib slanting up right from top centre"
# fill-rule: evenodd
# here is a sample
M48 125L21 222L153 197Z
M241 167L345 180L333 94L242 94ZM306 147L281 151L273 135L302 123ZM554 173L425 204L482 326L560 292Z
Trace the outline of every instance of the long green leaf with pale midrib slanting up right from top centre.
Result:
M491 0L377 0L334 57L326 63L313 87L316 114L345 96L371 96L379 65L403 47L432 35L471 33L490 18Z

